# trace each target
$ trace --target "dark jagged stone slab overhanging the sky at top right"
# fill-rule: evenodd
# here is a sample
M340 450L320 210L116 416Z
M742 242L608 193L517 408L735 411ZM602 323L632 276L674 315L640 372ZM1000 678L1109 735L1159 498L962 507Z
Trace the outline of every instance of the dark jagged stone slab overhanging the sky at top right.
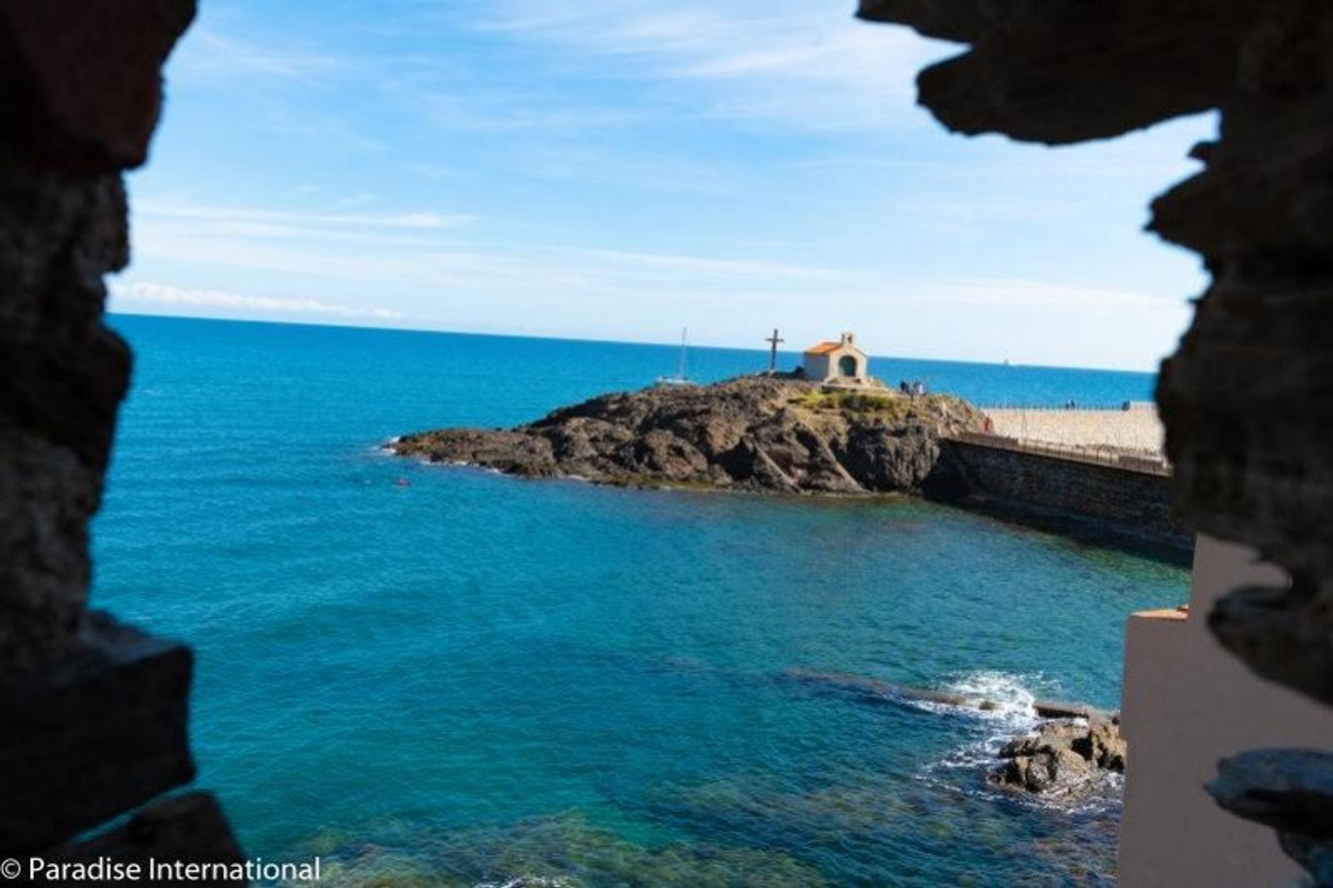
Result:
M917 80L921 104L948 128L1066 144L1217 107L1261 7L1261 0L862 0L858 15L972 44Z

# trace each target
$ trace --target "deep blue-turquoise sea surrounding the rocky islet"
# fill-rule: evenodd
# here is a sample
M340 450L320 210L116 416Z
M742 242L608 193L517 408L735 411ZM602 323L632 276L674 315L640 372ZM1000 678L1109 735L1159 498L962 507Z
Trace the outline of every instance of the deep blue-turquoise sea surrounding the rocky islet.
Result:
M112 324L137 365L93 601L196 649L199 784L248 855L319 855L323 885L1113 880L1113 791L1068 811L981 776L1030 695L1117 705L1125 616L1184 600L1184 571L913 500L625 491L380 449L641 387L674 371L672 347ZM690 357L702 380L766 361ZM870 369L978 403L1152 391ZM873 700L792 669L1008 705Z

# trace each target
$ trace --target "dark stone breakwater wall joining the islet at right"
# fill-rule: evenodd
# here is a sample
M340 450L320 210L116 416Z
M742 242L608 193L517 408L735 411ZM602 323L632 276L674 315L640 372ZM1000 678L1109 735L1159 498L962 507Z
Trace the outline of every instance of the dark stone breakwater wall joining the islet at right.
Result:
M1153 460L945 439L926 496L1176 564L1188 565L1193 552L1193 533L1172 511L1170 471Z

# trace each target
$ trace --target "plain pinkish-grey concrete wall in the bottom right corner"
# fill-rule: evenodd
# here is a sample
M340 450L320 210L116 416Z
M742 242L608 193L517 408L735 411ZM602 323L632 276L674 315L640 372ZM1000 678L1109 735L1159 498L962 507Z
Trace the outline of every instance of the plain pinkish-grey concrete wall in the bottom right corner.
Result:
M1224 756L1262 747L1320 748L1333 737L1333 709L1257 677L1206 627L1221 595L1282 579L1250 549L1200 536L1189 615L1130 617L1121 885L1289 885L1301 875L1272 829L1233 817L1204 792Z

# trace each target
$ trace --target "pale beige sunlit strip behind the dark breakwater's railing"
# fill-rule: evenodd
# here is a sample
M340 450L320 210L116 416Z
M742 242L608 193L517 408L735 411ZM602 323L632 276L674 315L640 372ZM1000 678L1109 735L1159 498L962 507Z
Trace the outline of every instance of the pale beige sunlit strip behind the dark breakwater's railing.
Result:
M996 435L1065 447L1109 445L1160 453L1162 424L1157 411L989 409Z

